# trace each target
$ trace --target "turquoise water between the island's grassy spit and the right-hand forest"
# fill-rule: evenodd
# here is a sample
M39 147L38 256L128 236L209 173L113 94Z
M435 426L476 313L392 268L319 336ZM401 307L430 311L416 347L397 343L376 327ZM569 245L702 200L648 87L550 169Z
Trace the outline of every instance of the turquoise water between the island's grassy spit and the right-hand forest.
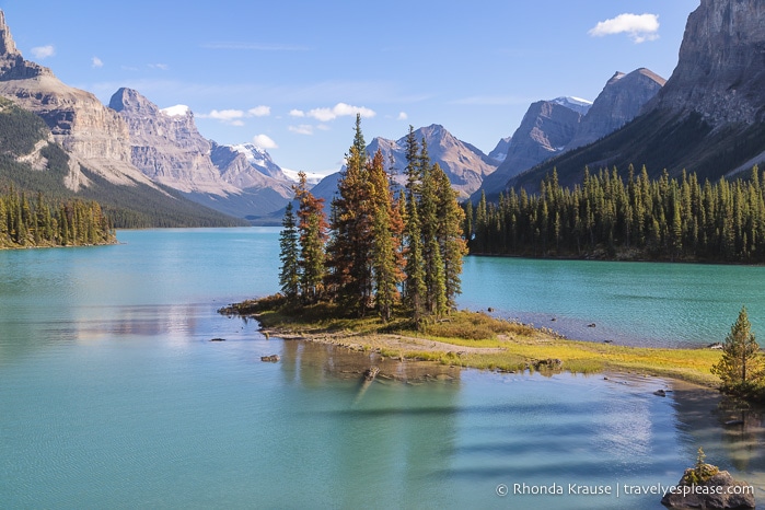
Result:
M461 306L571 338L706 346L725 339L743 305L765 338L762 266L468 257L464 280Z

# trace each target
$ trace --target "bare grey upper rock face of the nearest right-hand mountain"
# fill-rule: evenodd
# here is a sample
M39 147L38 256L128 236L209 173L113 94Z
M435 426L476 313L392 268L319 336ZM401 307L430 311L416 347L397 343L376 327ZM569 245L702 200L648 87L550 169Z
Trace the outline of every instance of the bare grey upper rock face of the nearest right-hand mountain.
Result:
M765 120L765 2L702 0L672 77L647 109L697 112L715 127Z

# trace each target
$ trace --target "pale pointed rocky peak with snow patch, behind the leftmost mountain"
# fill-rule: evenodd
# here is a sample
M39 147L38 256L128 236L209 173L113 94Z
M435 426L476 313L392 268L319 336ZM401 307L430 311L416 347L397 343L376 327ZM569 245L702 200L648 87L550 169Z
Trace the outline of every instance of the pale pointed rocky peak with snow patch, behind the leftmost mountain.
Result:
M188 108L162 111L130 89L119 89L109 107L129 128L132 164L149 178L184 193L236 193L210 161L210 142L199 135Z

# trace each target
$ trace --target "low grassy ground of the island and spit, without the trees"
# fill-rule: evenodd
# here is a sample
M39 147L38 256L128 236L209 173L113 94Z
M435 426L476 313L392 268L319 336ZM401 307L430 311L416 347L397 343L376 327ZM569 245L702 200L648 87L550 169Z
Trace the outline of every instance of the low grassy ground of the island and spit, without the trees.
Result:
M571 340L552 329L495 318L482 312L455 311L431 318L419 328L410 318L384 323L376 315L343 316L335 304L287 304L279 294L244 301L220 310L257 318L275 336L336 344L401 359L497 371L626 371L680 379L708 386L720 380L710 368L720 359L715 349L628 347ZM560 363L558 363L558 361Z

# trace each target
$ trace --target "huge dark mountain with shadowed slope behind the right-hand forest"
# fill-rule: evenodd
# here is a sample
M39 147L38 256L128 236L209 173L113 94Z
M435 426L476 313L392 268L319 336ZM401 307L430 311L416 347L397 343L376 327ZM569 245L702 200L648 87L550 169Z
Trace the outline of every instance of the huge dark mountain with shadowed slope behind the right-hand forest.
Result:
M700 179L765 162L765 3L702 0L688 16L677 67L640 115L612 135L544 162L509 185L534 189L555 166L561 184L629 164Z

